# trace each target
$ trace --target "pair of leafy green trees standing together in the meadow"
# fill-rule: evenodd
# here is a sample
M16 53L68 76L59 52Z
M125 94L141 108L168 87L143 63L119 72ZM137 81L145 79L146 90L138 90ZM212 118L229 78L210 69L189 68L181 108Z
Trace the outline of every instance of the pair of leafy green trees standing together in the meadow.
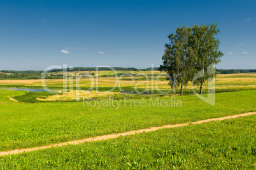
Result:
M215 36L220 32L217 24L193 25L193 27L178 27L175 34L169 34L170 43L166 44L166 50L162 57L163 65L161 71L166 71L170 76L170 84L187 85L192 81L197 73L201 73L194 83L201 84L200 94L202 94L203 83L209 78L213 78L213 66L220 62L223 53L218 46L220 41ZM211 68L211 73L209 72Z

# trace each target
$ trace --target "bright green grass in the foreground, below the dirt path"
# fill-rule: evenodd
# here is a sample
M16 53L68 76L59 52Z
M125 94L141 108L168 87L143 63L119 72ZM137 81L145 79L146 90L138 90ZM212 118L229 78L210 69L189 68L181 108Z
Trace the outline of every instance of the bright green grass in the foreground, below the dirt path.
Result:
M256 169L256 116L0 157L4 169Z

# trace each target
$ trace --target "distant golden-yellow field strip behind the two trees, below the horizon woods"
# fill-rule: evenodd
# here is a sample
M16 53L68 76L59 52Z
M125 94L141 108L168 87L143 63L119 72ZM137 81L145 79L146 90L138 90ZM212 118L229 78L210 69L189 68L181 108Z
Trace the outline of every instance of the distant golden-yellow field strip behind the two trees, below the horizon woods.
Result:
M100 71L100 74L108 74L110 71ZM111 71L113 73L113 71ZM139 72L139 73L138 73ZM150 74L150 71L129 71L131 74ZM87 71L89 73L89 71ZM91 71L92 73L92 71ZM118 73L125 73L125 71L118 71ZM126 71L127 73L127 71ZM154 74L160 74L160 71L154 71ZM155 78L157 75L154 76ZM134 87L138 89L139 92L143 92L145 90L162 90L164 92L171 91L168 81L165 80L166 76L161 76L162 80L160 81L152 81L149 77L149 80L146 81L138 80L138 78L145 78L145 76L134 77L135 80L132 81L130 76L123 77L127 80L119 80L115 77L99 77L98 79L96 76L93 77L92 80L89 78L80 78L80 80L67 80L67 88L73 85L74 89L76 87L80 87L82 90L98 90L100 91L107 91L115 87L116 92L120 90L124 91L131 91L134 90ZM118 80L118 81L117 81ZM73 83L72 83L73 81ZM153 82L153 85L152 85ZM252 90L256 89L256 74L247 74L247 73L240 73L240 74L218 74L215 80L216 82L216 89L217 90ZM46 80L46 85L49 89L62 89L63 88L63 80ZM207 83L204 84L204 87L207 86ZM42 89L41 80L0 80L0 87L20 87L20 88L38 88ZM118 89L120 87L120 89ZM197 88L197 87L196 87ZM192 84L188 83L188 86L185 87L185 90L191 90ZM72 89L71 89L72 90ZM178 90L178 88L177 88Z

